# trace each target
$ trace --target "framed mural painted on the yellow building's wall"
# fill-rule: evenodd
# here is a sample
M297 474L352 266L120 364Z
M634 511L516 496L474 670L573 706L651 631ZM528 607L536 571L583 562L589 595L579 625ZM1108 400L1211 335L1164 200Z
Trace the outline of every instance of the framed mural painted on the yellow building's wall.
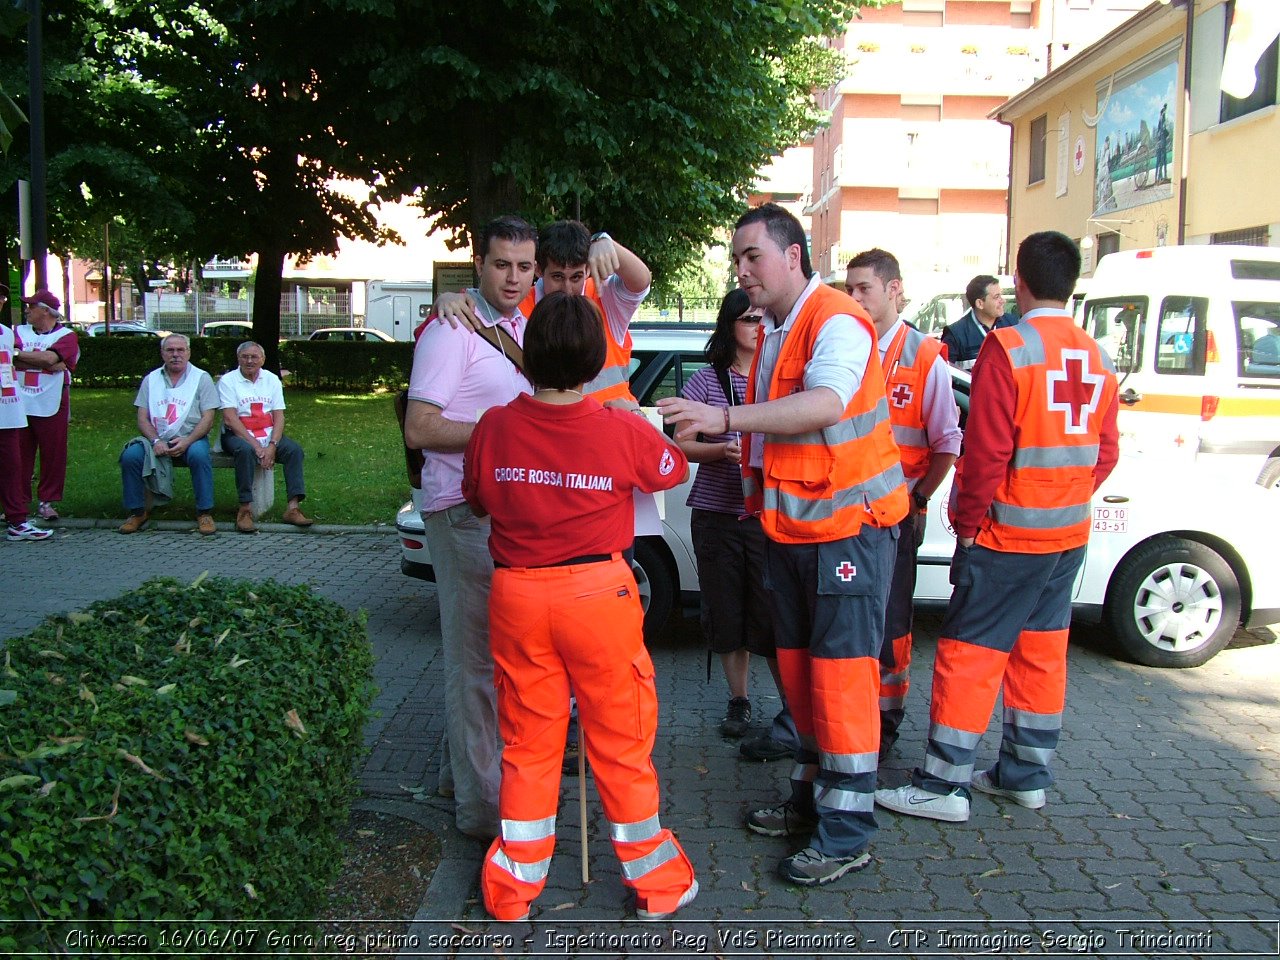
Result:
M1098 91L1094 141L1093 215L1102 216L1174 196L1169 166L1174 156L1174 104L1178 51L1170 51Z

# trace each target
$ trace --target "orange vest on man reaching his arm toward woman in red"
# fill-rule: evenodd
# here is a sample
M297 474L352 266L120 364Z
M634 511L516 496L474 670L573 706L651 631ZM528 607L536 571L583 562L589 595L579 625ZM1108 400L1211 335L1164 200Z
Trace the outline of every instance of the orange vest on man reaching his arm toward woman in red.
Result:
M764 436L764 470L742 457L742 492L749 512L758 512L764 532L778 543L826 543L855 536L869 524L888 527L908 512L906 484L888 421L884 376L870 317L852 297L824 284L809 293L778 352L769 399L804 389L804 369L823 325L851 315L872 342L867 374L845 412L831 426L795 435ZM763 343L763 332L760 334ZM751 365L746 402L755 402L760 351Z

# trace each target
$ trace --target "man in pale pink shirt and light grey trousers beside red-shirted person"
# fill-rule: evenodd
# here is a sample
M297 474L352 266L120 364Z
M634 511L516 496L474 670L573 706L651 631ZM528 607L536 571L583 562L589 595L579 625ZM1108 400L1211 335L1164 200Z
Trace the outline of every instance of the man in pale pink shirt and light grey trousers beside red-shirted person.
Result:
M532 387L511 344L525 338L520 302L534 282L538 232L516 216L485 224L476 238L480 287L467 293L495 342L438 320L413 349L404 443L422 451L422 527L435 570L444 653L440 783L452 782L463 833L498 835L498 712L489 652L489 521L462 498L462 452L480 415Z

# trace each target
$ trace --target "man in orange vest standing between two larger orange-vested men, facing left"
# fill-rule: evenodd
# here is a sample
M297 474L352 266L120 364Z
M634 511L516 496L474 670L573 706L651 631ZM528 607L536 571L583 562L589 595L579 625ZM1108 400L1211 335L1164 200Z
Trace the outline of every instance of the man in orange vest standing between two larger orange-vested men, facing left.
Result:
M897 540L881 648L879 755L883 760L897 741L911 682L915 558L924 539L929 498L960 454L960 411L951 390L946 348L897 316L902 292L897 257L878 247L863 251L849 261L845 291L876 324L888 419L911 492L911 513L902 521L902 535Z

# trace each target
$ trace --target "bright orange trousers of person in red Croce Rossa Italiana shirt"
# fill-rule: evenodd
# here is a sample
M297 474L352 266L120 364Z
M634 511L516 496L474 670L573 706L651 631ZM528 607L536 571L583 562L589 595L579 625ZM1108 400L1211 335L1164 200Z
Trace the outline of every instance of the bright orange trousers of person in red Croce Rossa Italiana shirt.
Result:
M568 728L570 689L622 882L636 906L676 909L694 882L680 841L658 822L653 660L631 568L600 563L494 571L489 630L503 740L502 835L480 884L498 920L520 919L547 883Z

